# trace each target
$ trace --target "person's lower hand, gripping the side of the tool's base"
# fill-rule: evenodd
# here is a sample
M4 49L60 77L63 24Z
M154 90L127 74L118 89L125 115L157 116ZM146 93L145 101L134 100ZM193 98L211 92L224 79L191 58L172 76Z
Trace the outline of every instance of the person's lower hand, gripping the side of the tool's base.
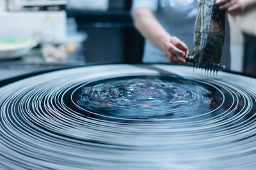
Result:
M165 41L163 52L170 62L180 64L186 64L184 57L189 54L188 46L175 36Z

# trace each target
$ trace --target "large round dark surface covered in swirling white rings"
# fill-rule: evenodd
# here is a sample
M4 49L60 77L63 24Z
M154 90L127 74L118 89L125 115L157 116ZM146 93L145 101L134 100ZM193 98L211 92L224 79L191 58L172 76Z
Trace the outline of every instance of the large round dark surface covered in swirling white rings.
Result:
M149 66L81 67L1 87L0 169L256 166L255 79Z

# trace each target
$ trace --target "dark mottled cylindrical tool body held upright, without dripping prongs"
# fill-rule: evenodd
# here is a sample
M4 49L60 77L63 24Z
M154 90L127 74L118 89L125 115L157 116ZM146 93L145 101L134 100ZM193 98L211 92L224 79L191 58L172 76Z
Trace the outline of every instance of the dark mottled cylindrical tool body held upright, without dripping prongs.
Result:
M213 0L201 0L194 31L193 57L187 61L205 69L221 69L225 38L225 11Z

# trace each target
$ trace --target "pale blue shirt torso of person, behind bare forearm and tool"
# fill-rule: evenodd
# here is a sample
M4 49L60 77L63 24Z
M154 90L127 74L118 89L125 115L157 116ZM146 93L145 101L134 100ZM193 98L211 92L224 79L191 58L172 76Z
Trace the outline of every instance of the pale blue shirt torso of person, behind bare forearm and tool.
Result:
M158 0L156 11L157 20L171 36L176 36L184 41L188 45L190 52L193 50L193 31L199 4L200 0ZM152 57L155 56L154 58L156 60L150 55ZM168 62L168 60L164 59L165 56L163 53L146 41L144 54L144 58L146 59L144 61L159 62L157 60L159 57L156 57L156 55L161 55L161 58L163 58L162 61Z

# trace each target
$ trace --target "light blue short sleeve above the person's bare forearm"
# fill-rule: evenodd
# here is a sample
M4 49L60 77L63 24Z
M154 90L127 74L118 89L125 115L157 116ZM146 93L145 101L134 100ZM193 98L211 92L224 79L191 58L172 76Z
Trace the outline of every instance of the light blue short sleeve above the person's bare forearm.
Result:
M138 8L148 8L152 11L157 11L158 0L133 0L132 13Z

